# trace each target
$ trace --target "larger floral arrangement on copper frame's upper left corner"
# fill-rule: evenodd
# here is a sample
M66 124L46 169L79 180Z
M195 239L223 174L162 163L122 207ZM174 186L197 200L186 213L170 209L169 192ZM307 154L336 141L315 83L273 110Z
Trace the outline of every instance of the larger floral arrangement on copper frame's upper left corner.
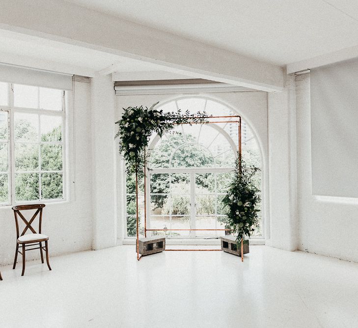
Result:
M153 132L162 137L176 124L204 123L208 117L205 112L190 114L188 110L183 115L180 109L177 112L164 113L163 110L154 109L157 104L158 102L149 109L143 106L123 108L122 118L115 122L118 124L115 138L119 138L119 151L126 160L128 173L142 171L139 168L144 166L144 150Z

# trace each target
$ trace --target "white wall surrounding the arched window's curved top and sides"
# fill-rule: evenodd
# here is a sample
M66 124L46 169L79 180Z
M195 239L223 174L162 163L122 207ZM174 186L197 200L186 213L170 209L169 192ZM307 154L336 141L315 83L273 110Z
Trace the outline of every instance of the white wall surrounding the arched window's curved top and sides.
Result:
M262 91L245 91L245 92L220 92L220 93L199 93L199 94L156 94L156 95L118 95L116 96L116 119L120 119L122 116L122 108L129 106L147 106L150 107L153 103L160 101L164 103L169 100L178 99L181 97L208 97L212 100L219 101L226 104L228 107L233 108L239 115L248 123L253 132L255 133L258 142L262 150L263 159L263 186L264 186L264 200L263 204L264 213L263 217L266 220L265 235L268 235L269 227L269 212L268 212L268 132L267 132L267 93ZM159 105L160 105L159 104ZM218 113L220 115L220 113ZM121 202L118 204L118 238L123 238L125 235L125 204L124 204L124 171L123 161L120 156L117 157L118 165L118 200Z

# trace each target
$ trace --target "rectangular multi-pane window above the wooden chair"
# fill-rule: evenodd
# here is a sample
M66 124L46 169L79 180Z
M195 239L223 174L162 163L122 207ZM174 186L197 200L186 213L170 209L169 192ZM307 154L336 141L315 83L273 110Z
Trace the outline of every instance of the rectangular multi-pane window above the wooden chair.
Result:
M65 92L0 83L0 203L64 198Z

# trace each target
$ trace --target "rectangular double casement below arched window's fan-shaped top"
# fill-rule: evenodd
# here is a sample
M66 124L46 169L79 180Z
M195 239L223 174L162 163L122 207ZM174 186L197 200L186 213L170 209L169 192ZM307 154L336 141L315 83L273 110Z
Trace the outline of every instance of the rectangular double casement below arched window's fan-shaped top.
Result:
M147 171L147 229L167 238L218 238L224 231L221 203L234 168L175 168ZM189 229L203 229L189 231Z

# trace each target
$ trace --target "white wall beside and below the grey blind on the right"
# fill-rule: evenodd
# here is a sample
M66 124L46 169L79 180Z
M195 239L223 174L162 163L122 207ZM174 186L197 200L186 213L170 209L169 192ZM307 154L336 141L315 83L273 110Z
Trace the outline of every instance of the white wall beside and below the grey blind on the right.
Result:
M358 262L358 199L312 196L309 74L296 78L296 108L299 249Z

